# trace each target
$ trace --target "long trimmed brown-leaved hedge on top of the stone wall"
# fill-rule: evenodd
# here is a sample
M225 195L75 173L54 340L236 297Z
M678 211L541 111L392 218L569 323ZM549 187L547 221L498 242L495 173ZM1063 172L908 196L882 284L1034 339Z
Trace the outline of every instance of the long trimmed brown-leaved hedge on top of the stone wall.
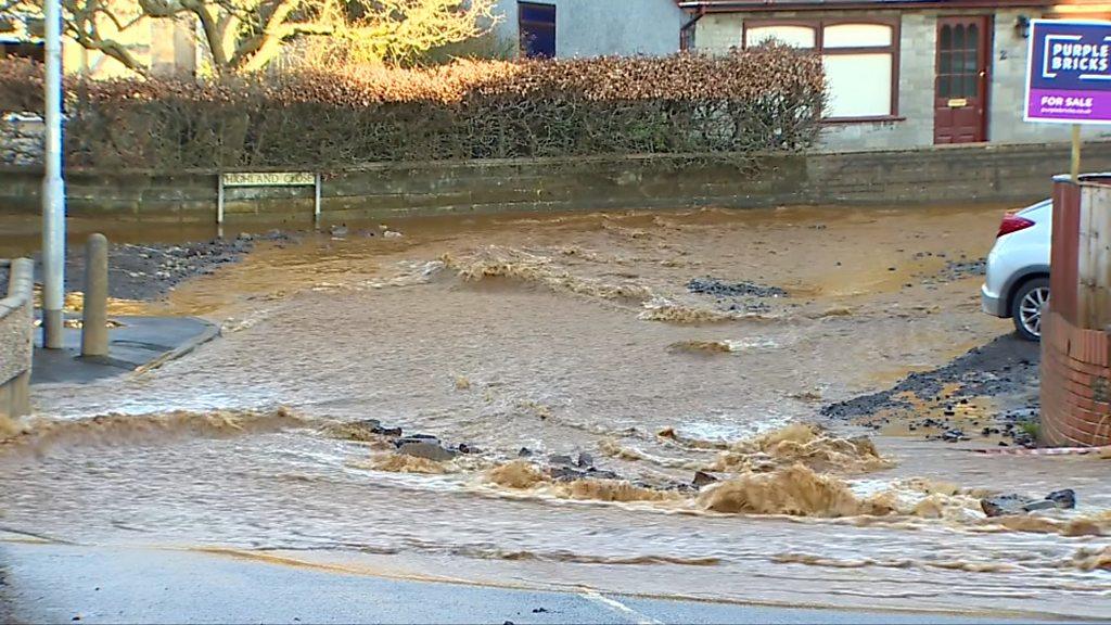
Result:
M41 68L0 61L0 110L41 110ZM220 80L71 78L69 162L251 168L628 153L800 151L824 102L818 57L457 61Z

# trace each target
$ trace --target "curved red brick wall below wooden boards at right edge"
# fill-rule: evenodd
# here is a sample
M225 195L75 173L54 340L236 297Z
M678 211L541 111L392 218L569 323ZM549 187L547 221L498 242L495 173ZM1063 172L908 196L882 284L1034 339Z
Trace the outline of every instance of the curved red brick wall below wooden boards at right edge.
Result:
M1041 437L1053 446L1111 445L1108 333L1052 311L1042 321Z

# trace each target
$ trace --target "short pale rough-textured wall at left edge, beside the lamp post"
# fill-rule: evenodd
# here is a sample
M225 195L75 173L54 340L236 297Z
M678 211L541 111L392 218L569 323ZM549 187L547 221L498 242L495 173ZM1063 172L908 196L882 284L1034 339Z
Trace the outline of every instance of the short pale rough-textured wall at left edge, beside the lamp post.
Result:
M30 411L34 266L18 258L8 270L8 295L0 299L0 417L19 417Z

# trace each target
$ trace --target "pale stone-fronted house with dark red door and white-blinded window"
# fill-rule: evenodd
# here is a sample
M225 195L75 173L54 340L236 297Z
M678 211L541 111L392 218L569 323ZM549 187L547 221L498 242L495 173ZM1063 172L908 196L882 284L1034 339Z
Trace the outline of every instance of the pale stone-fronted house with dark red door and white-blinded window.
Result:
M1111 18L1090 0L679 0L698 50L769 39L819 51L828 149L1065 141L1022 120L1034 18ZM1087 128L1091 137L1102 130Z

